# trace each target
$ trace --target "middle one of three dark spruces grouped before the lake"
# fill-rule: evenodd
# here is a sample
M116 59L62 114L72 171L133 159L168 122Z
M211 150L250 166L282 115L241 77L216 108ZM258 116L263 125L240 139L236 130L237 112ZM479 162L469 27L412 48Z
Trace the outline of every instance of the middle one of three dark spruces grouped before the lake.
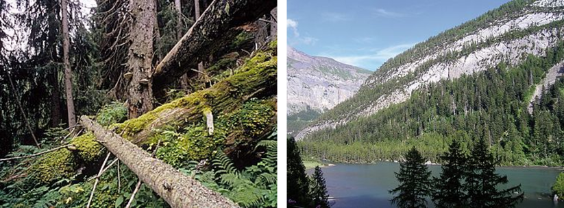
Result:
M464 168L466 156L461 150L460 143L453 140L441 156L441 176L434 178L434 192L432 200L437 208L466 207L464 192Z

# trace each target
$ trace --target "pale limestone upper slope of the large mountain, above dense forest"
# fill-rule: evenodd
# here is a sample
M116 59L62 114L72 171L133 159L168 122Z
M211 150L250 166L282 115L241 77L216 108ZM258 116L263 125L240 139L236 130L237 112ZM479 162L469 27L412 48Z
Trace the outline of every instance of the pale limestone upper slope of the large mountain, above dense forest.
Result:
M518 65L530 54L544 56L545 49L564 40L563 6L564 0L511 1L431 37L385 62L360 87L362 93L350 99L355 102L343 102L335 107L339 111L321 115L296 139L402 103L413 91L431 83L485 71L500 63Z

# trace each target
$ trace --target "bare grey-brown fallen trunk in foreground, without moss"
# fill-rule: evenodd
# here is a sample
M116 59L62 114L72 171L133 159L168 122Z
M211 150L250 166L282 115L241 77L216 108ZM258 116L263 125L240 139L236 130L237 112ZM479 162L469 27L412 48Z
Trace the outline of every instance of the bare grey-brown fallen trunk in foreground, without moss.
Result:
M214 192L171 165L151 157L134 143L106 130L86 116L80 123L94 132L97 140L108 148L144 183L149 185L171 207L238 207L228 198Z

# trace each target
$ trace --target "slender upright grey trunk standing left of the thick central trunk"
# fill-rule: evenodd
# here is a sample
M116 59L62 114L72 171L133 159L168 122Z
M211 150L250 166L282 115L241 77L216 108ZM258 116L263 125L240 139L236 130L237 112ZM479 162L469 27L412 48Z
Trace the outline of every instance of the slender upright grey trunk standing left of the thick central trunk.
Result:
M69 19L67 18L66 2L61 0L62 14L62 54L64 61L64 91L66 92L66 112L69 117L69 128L76 126L75 104L73 101L73 72L69 62ZM70 129L72 132L73 129Z

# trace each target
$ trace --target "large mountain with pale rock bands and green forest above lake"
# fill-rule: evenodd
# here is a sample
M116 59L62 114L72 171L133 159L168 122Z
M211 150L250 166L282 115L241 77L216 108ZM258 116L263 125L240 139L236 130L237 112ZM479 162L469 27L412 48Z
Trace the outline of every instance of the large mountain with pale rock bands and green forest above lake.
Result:
M510 1L388 60L296 137L336 161L410 146L436 160L452 139L486 137L505 164L562 164L563 40L563 0Z

